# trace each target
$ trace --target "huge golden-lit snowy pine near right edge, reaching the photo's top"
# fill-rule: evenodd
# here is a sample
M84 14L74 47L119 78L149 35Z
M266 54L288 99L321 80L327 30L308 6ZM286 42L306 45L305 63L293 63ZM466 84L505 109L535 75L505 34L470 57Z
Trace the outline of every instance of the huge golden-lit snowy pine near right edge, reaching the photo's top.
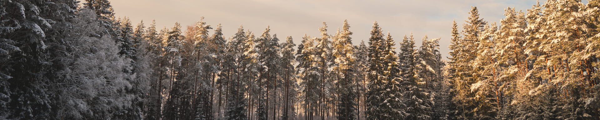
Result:
M546 22L542 24L541 33L547 35L547 40L541 42L541 50L548 53L542 56L548 59L546 64L552 64L552 76L549 84L560 86L560 96L565 99L554 103L553 109L561 107L558 113L562 119L586 119L589 111L583 108L582 101L586 97L581 94L593 84L586 75L588 59L582 59L578 51L584 50L589 41L586 39L588 29L584 21L583 4L580 1L548 1L542 10ZM557 24L569 24L559 26ZM582 86L583 85L583 86Z

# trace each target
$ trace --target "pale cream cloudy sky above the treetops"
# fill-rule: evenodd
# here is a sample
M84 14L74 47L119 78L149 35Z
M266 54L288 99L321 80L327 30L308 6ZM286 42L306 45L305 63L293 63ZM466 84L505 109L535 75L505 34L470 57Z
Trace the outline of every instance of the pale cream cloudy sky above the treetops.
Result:
M469 16L471 6L478 7L480 17L488 23L503 19L508 7L526 11L536 0L112 0L111 5L118 17L129 17L133 23L144 20L146 26L156 20L158 29L170 28L175 22L193 26L200 17L213 27L221 23L223 35L230 38L243 24L257 36L267 26L284 42L292 36L296 45L304 34L320 37L319 27L325 21L329 35L348 20L353 32L354 45L361 40L368 43L373 22L377 21L384 32L390 32L400 42L412 32L416 44L421 38L440 39L440 52L448 57L452 20L459 30ZM543 4L543 3L541 3ZM212 33L212 32L211 32ZM397 44L398 46L398 44Z

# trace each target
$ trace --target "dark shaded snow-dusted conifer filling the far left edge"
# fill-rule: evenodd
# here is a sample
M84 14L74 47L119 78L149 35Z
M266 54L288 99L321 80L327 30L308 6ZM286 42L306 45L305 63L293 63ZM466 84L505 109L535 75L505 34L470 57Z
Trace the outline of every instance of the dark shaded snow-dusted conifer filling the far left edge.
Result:
M53 59L64 48L76 1L2 1L0 3L0 119L53 116L49 82ZM56 44L56 45L54 45ZM51 46L52 45L52 46Z

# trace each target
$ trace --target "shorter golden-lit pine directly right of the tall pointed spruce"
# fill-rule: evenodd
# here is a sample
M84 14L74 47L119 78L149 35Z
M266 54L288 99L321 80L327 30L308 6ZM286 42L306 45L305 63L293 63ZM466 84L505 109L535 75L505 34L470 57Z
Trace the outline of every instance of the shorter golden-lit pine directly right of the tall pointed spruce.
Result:
M502 71L498 61L500 54L497 51L497 41L490 39L497 35L496 23L486 25L484 29L479 35L478 56L471 64L475 69L472 75L476 83L471 85L470 90L475 94L473 99L477 104L473 110L476 113L473 117L492 119L504 105L502 88L506 87L502 86L505 85L505 81L499 79Z

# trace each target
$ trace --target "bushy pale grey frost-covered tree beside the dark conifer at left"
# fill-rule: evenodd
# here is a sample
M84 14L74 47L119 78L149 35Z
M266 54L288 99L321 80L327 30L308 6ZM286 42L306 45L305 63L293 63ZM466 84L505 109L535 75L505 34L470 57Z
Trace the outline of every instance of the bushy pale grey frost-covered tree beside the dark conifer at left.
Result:
M121 93L131 88L126 80L131 75L122 72L129 60L115 54L118 47L110 36L88 36L102 30L93 11L84 9L77 15L73 25L79 27L69 33L76 37L68 38L67 44L72 51L57 56L61 65L70 67L56 72L64 79L53 87L61 88L53 90L60 98L56 119L110 119L115 110L131 105L127 94Z

